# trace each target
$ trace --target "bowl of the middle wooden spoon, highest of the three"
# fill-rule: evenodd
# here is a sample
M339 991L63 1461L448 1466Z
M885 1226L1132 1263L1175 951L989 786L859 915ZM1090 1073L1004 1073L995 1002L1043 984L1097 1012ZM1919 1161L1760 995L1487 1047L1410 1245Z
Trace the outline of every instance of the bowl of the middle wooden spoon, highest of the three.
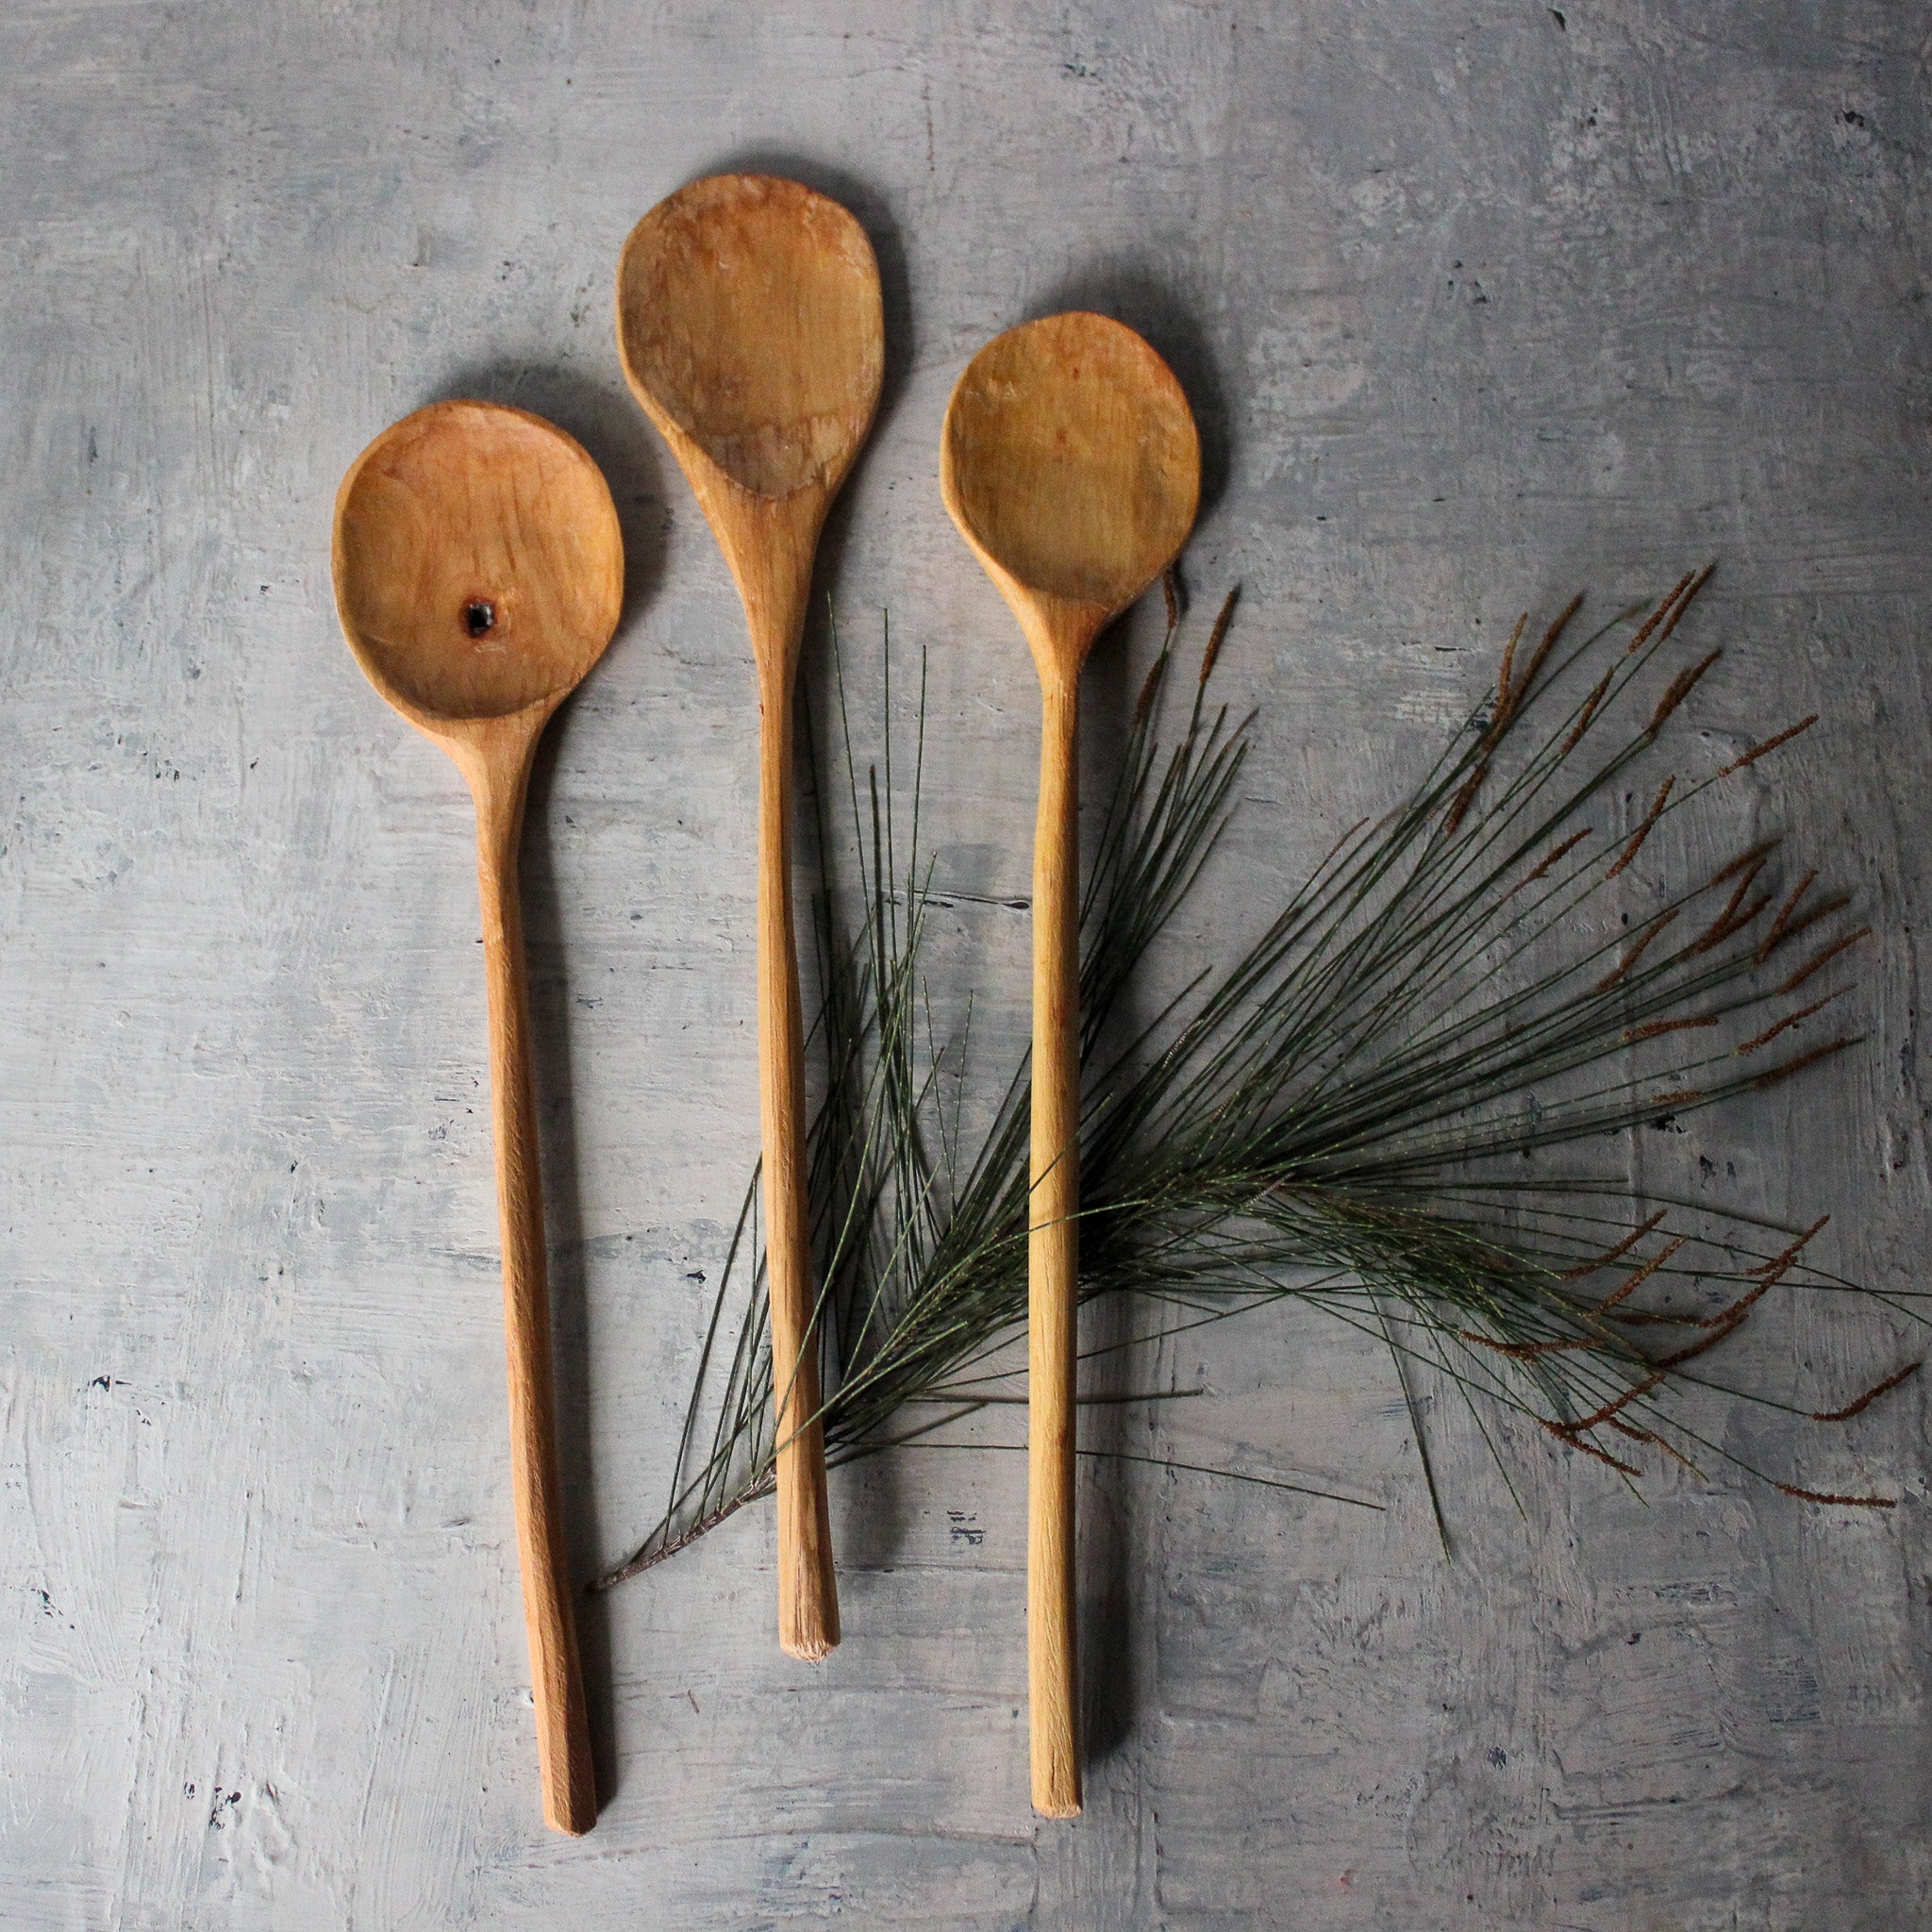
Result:
M763 174L680 187L616 278L624 375L753 497L838 487L885 373L879 265L837 201Z

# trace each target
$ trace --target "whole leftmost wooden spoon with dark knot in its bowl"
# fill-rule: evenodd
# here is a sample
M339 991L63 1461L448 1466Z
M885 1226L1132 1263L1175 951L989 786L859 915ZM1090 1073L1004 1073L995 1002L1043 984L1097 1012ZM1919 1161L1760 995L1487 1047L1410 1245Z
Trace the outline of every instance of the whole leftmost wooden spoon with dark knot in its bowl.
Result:
M616 630L624 541L603 475L560 429L522 410L439 402L384 429L350 466L334 576L355 661L456 759L475 798L510 1476L543 1816L556 1832L587 1832L597 1787L556 1490L516 852L537 738Z

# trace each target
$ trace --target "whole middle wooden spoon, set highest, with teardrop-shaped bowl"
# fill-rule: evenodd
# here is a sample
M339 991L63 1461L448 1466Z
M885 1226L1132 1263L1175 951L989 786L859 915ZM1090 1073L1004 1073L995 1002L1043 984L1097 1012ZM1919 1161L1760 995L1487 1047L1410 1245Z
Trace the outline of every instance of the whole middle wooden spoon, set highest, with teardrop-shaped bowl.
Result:
M624 375L663 431L744 599L757 661L757 1076L779 1403L779 1642L838 1642L806 1202L792 935L792 688L825 512L885 369L879 265L837 201L719 174L661 201L616 270Z

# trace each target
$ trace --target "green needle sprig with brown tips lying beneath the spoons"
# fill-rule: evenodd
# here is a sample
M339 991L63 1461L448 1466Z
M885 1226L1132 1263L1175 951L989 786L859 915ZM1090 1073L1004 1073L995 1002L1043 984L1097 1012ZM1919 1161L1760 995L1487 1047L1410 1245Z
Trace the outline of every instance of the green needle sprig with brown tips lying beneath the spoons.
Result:
M1124 1294L1151 1312L1107 1352L1151 1356L1171 1335L1291 1296L1358 1327L1395 1360L1445 1548L1418 1379L1455 1385L1478 1424L1486 1405L1528 1416L1627 1482L1662 1459L1745 1468L1685 1416L1685 1393L1719 1387L1704 1374L1712 1352L1774 1287L1866 1293L1806 1262L1822 1221L1772 1227L1640 1196L1586 1161L1563 1175L1526 1161L1586 1155L1605 1136L1776 1086L1862 1037L1843 995L1866 929L1845 927L1845 900L1814 873L1785 877L1776 840L1700 883L1656 887L1656 829L1804 728L1704 779L1652 769L1716 657L1675 643L1708 574L1571 643L1578 599L1522 657L1519 622L1490 703L1416 792L1354 827L1227 970L1122 1037L1124 995L1209 866L1250 750L1252 721L1208 703L1233 597L1179 742L1159 744L1177 676L1171 595L1092 856L1082 1298ZM815 782L825 1097L810 1184L825 1445L850 1463L935 1447L1024 1397L1030 1095L1022 1061L980 1146L964 1146L970 1009L943 1036L922 972L935 902L920 817L923 667L904 823L891 736L883 769L862 777L842 678L835 690L860 891L846 895L856 916L840 918L829 788ZM1617 916L1627 873L1652 887L1636 923ZM663 1517L599 1588L773 1490L759 1256L753 1175ZM1874 1298L1920 1320L1913 1294ZM1913 1368L1812 1420L1859 1412ZM1776 1486L1820 1503L1891 1501Z

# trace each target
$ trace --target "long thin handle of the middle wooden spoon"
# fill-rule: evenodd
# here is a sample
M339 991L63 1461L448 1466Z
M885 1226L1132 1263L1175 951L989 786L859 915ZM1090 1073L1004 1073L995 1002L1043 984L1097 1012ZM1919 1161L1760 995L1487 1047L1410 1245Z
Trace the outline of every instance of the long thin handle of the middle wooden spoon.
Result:
M779 1406L779 1642L823 1658L838 1642L819 1420L811 1213L806 1198L806 1030L792 933L792 665L761 674L757 744L757 1097L765 1136L765 1273Z

